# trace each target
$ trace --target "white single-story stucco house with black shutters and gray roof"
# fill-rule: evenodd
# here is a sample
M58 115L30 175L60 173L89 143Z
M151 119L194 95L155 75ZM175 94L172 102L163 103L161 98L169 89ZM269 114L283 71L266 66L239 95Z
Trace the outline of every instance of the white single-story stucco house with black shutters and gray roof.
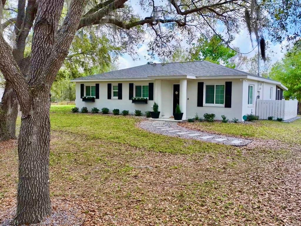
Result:
M280 82L258 77L208 61L146 64L127 69L76 78L76 106L81 109L118 108L134 113L152 111L159 105L160 117L169 118L180 105L183 119L196 113L225 115L240 121L246 114L255 114L256 99L281 100ZM84 96L95 97L86 102ZM133 97L145 97L144 103L133 103Z

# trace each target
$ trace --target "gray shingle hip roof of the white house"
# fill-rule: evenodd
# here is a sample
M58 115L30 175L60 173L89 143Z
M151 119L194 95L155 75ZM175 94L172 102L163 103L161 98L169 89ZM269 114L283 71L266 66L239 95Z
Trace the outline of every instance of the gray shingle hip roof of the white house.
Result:
M76 78L76 80L90 79L131 79L147 78L147 76L229 76L229 75L252 75L250 73L231 69L208 61L191 61L165 64L144 64L117 71L95 74L87 77Z

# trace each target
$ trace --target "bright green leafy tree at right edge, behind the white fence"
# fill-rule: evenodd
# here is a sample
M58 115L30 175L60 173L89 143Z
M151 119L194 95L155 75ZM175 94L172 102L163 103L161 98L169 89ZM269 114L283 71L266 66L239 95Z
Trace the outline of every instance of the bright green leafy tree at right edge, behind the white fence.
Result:
M296 96L299 100L299 109L301 109L301 51L295 46L281 61L273 64L269 76L272 79L281 81L288 88L284 96Z

